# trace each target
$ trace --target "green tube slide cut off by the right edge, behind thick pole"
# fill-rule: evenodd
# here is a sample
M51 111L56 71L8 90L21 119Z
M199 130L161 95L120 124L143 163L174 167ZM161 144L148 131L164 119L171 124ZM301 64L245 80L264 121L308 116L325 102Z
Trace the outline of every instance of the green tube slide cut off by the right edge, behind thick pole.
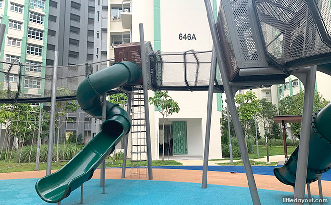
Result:
M296 165L299 146L289 160L274 169L276 178L287 185L295 185ZM307 182L317 180L316 174L322 174L331 169L331 103L313 115L308 155Z

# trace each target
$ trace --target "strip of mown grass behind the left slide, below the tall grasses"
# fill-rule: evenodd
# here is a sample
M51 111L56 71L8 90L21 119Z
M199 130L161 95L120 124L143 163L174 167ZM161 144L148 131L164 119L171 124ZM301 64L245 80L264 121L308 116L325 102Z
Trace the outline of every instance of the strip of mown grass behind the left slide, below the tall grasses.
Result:
M52 169L60 169L62 168L67 162L60 162L59 165L57 166L56 163L52 163ZM147 166L147 161L146 162L141 162L141 164L138 164L138 162L135 162L133 164L134 166ZM183 165L182 163L179 163L174 160L165 160L162 162L162 160L153 160L152 161L153 166L181 166ZM8 172L19 172L19 171L35 171L36 164L35 163L13 163L10 162L10 167L12 168L7 168L8 167L8 161L4 162L4 160L0 160L0 173L8 173ZM126 166L131 166L131 161L127 160L126 161ZM46 170L47 163L40 163L39 164L39 170ZM100 167L100 166L99 166ZM106 160L106 167L122 167L122 160L116 160L115 163L113 164L112 160L107 159Z

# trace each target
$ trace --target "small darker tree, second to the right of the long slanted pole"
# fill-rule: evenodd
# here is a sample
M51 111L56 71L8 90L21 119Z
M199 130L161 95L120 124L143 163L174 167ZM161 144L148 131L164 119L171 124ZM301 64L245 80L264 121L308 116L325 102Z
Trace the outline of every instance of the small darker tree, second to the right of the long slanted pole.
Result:
M271 134L267 134L267 132L268 133L271 132L270 123L273 122L272 117L277 114L277 107L276 107L276 105L273 105L271 102L267 101L267 99L260 100L260 105L261 105L261 110L258 113L258 117L260 118L260 120L263 123L265 137L268 137L268 139L270 140ZM270 143L270 146L271 146L271 143Z

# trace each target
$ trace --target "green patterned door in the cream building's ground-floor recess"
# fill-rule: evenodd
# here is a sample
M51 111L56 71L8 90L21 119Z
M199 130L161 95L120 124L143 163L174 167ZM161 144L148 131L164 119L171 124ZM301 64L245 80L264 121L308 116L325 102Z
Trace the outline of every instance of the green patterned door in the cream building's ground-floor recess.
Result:
M186 121L172 121L173 154L187 154Z

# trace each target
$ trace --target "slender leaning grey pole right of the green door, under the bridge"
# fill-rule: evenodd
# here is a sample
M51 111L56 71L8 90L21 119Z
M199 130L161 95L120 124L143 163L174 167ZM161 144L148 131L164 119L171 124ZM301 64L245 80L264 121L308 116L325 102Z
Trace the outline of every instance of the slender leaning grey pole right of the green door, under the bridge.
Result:
M208 160L209 160L209 145L210 145L210 127L211 127L211 111L212 111L212 97L214 94L214 80L216 73L216 53L212 49L211 64L210 64L210 77L208 88L208 102L207 102L207 119L206 119L206 135L205 135L205 150L204 150L204 166L202 171L202 184L201 188L207 188L207 174L208 174Z

